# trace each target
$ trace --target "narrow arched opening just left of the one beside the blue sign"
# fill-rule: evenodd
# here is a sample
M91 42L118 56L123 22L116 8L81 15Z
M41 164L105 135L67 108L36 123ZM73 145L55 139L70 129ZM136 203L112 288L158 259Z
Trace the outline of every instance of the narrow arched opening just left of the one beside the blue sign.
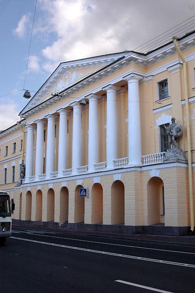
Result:
M60 190L60 224L68 221L68 188Z

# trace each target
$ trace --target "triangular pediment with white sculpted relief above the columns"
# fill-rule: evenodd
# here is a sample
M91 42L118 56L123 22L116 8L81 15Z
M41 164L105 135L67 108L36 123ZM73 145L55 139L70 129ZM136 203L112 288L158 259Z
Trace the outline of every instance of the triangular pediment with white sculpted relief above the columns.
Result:
M63 91L69 86L80 82L82 79L90 76L104 66L115 62L123 56L127 56L128 53L129 51L124 51L60 63L37 93L31 98L29 103L22 109L20 116L47 99L50 99L52 94Z

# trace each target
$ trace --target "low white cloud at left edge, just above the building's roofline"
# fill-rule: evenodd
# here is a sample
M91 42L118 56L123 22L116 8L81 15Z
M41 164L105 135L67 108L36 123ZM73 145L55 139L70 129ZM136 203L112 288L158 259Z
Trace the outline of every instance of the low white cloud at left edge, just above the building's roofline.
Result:
M13 101L7 103L0 103L0 130L8 128L19 121L17 105Z

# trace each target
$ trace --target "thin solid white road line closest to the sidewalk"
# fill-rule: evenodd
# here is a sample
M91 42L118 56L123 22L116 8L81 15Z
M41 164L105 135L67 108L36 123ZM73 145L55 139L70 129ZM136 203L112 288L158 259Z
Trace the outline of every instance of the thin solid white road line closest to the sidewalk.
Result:
M14 230L15 231L15 230ZM12 230L12 232L14 232ZM17 231L18 232L18 231ZM30 234L29 232L21 231L22 233ZM32 235L40 236L39 234L32 233ZM123 245L123 244L115 244L115 243L107 243L107 242L99 242L99 241L90 241L90 240L83 240L83 239L75 239L75 238L67 238L67 237L59 237L59 236L50 236L50 235L41 235L44 237L51 237L51 238L59 238L59 239L66 239L66 240L75 240L81 242L89 242L89 243L97 243L97 244L105 244L105 245L113 245L113 246L121 246L121 247L130 247L130 248L139 248L139 249L148 249L154 251L167 251L167 252L176 252L176 253L187 253L187 254L195 254L195 252L185 252L185 251L171 251L165 249L157 249L157 248L148 248L148 247L141 247L141 246L133 246L133 245Z

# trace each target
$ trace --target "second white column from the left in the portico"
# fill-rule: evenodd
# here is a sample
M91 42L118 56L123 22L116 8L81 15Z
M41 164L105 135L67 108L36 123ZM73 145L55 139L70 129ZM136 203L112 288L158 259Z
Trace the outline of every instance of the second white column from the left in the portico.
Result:
M44 152L44 121L38 120L37 123L37 140L36 140L36 157L35 157L35 181L39 181L39 175L43 173L43 152Z

